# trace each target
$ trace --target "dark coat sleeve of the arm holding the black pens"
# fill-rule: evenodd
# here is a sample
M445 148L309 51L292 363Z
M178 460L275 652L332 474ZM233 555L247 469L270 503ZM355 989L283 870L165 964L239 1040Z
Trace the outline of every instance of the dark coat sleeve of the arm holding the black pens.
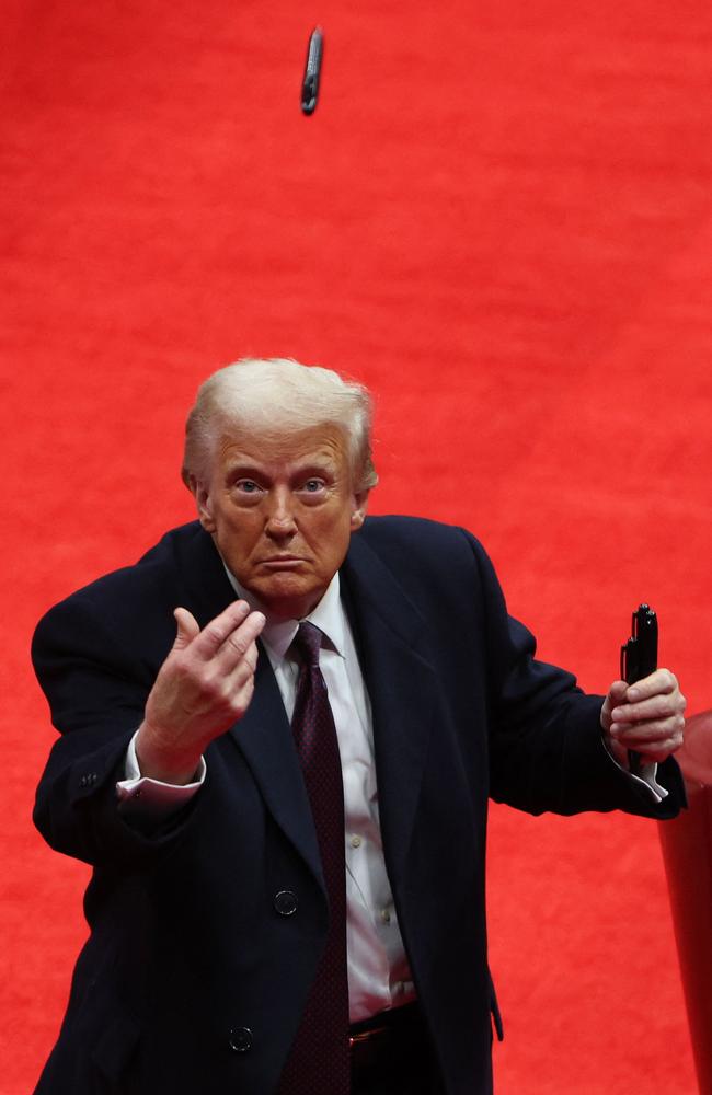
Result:
M668 791L655 803L609 757L600 727L604 698L585 695L565 670L536 659L533 635L507 614L494 568L469 537L480 569L490 680L491 794L530 814L621 809L674 817L685 804L677 763L658 769Z

